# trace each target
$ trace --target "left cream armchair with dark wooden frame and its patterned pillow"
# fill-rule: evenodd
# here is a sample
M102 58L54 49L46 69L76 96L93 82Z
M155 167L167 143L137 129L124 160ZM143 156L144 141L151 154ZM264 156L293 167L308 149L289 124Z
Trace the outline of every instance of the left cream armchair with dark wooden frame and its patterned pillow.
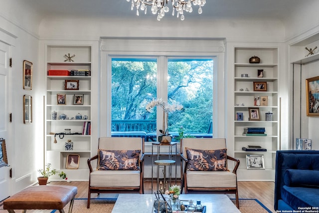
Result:
M97 155L88 159L90 169L87 208L91 193L144 194L144 139L101 137ZM93 161L97 166L93 169Z

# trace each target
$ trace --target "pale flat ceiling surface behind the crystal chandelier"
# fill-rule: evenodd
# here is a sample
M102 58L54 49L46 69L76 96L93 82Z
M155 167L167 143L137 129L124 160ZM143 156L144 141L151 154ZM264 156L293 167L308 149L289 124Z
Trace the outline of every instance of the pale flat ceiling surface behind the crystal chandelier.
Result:
M279 18L284 19L291 12L298 10L302 4L313 0L206 0L202 8L203 13L197 14L197 6L192 13L185 14L189 18ZM131 2L127 0L25 0L43 17L53 16L82 16L104 18L129 18L142 19L145 14L136 15L135 9L131 10ZM175 15L176 16L176 15ZM154 18L148 10L148 18ZM164 19L171 19L171 11Z

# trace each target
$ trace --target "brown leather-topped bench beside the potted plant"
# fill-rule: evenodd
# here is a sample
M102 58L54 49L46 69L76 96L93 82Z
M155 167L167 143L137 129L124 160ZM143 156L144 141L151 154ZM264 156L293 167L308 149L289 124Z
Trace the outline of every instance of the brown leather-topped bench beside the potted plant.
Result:
M33 186L7 198L3 201L3 209L9 213L14 210L58 210L64 213L63 208L70 202L69 213L72 212L74 197L78 193L74 186Z

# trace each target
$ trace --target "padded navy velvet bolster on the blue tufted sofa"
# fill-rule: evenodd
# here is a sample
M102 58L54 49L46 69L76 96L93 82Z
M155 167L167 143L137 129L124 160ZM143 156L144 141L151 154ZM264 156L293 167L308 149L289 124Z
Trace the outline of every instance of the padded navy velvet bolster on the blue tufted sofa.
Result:
M287 187L316 187L319 188L318 170L286 170L284 183Z

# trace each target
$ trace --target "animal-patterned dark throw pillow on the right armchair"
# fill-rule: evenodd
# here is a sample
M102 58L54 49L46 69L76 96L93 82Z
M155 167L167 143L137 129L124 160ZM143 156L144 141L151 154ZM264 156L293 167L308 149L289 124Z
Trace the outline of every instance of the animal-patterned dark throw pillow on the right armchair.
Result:
M226 150L196 150L186 147L187 171L228 171Z

